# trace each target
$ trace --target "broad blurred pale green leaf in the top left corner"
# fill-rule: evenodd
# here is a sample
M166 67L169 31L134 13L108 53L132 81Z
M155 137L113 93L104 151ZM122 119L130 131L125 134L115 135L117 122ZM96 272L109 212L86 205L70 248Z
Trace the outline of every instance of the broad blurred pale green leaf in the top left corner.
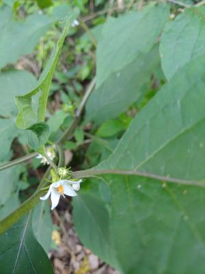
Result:
M14 63L20 55L31 53L41 36L51 27L55 21L61 20L70 14L70 7L64 6L64 12L58 13L59 7L53 10L53 14L32 14L25 21L15 21L12 8L3 6L0 8L0 68L8 63Z

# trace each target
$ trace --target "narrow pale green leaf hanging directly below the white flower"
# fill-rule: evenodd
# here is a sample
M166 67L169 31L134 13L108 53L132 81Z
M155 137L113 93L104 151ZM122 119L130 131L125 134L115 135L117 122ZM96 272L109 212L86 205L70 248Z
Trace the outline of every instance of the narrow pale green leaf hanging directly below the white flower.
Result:
M46 253L51 249L53 222L49 201L41 201L33 210L32 227L34 235Z

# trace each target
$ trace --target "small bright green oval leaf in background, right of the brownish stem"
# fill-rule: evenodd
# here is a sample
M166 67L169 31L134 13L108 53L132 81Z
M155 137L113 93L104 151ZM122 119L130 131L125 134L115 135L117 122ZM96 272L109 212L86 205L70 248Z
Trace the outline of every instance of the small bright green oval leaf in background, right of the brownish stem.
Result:
M118 134L124 129L123 123L118 120L110 120L103 123L96 132L97 136L100 137L111 137L115 134Z

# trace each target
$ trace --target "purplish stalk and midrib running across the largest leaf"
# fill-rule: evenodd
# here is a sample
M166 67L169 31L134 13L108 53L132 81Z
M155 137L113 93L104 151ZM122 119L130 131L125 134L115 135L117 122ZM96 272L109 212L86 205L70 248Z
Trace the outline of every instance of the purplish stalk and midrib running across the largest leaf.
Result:
M105 169L105 170L96 170L96 169L87 169L85 171L74 171L72 172L73 178L83 178L83 177L92 177L93 175L104 175L104 174L119 174L119 175L137 175L141 177L148 177L152 179L157 179L163 182L170 182L175 184L184 184L188 186L200 186L205 187L205 183L197 181L189 181L186 179L172 178L168 176L156 175L153 173L147 173L143 171L128 171L128 170L118 170L118 169Z

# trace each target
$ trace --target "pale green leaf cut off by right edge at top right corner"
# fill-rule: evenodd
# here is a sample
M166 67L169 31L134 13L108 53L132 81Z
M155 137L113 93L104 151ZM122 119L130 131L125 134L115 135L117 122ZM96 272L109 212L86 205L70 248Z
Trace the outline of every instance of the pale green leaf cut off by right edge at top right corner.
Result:
M159 49L167 79L205 51L204 19L204 7L189 8L165 26Z

